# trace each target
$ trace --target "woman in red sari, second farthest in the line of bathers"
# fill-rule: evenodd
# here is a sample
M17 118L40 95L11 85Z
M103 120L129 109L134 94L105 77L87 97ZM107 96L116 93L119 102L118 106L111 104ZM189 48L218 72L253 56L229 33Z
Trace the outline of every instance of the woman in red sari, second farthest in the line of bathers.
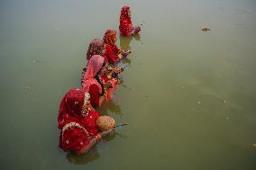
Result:
M113 29L109 29L105 31L104 35L104 43L105 43L105 57L108 62L111 64L116 64L120 61L121 58L126 57L131 53L130 50L121 50L115 45L116 42L116 31Z

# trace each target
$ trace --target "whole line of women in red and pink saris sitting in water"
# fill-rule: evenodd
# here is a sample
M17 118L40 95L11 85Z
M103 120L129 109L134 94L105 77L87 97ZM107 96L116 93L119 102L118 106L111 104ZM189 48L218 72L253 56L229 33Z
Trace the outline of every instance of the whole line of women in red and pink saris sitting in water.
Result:
M119 31L124 37L141 31L140 26L133 26L129 6L121 9ZM113 99L116 87L121 83L118 75L124 69L116 64L131 53L119 49L116 40L116 31L109 29L103 40L95 39L89 43L81 87L71 88L59 104L59 148L66 152L87 153L115 128L114 119L99 115L96 107Z

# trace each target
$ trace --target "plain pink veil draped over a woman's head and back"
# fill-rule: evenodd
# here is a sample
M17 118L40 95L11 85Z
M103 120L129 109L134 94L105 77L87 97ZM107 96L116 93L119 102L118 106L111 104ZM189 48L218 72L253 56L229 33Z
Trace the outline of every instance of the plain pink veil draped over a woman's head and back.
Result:
M94 55L89 59L87 68L84 68L81 79L81 84L84 91L88 92L91 85L96 85L98 87L99 93L102 94L102 87L95 79L95 76L103 64L104 58L100 55Z

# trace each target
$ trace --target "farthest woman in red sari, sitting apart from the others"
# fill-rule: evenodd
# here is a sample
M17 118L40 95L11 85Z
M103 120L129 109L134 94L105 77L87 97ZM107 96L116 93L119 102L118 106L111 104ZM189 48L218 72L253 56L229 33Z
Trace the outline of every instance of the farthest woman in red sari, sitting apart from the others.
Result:
M133 27L131 9L129 6L123 6L121 9L119 31L120 35L125 37L130 37L141 31L140 26Z

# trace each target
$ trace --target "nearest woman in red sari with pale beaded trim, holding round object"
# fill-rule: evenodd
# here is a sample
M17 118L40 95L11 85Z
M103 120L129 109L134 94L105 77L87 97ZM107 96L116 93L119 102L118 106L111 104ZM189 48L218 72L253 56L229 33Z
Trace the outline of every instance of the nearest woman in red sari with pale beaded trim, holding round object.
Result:
M98 123L100 119L101 116L90 104L90 94L77 88L70 89L59 105L59 148L78 154L87 152L114 128L112 119L112 122L106 122L105 131L98 132L102 127Z

